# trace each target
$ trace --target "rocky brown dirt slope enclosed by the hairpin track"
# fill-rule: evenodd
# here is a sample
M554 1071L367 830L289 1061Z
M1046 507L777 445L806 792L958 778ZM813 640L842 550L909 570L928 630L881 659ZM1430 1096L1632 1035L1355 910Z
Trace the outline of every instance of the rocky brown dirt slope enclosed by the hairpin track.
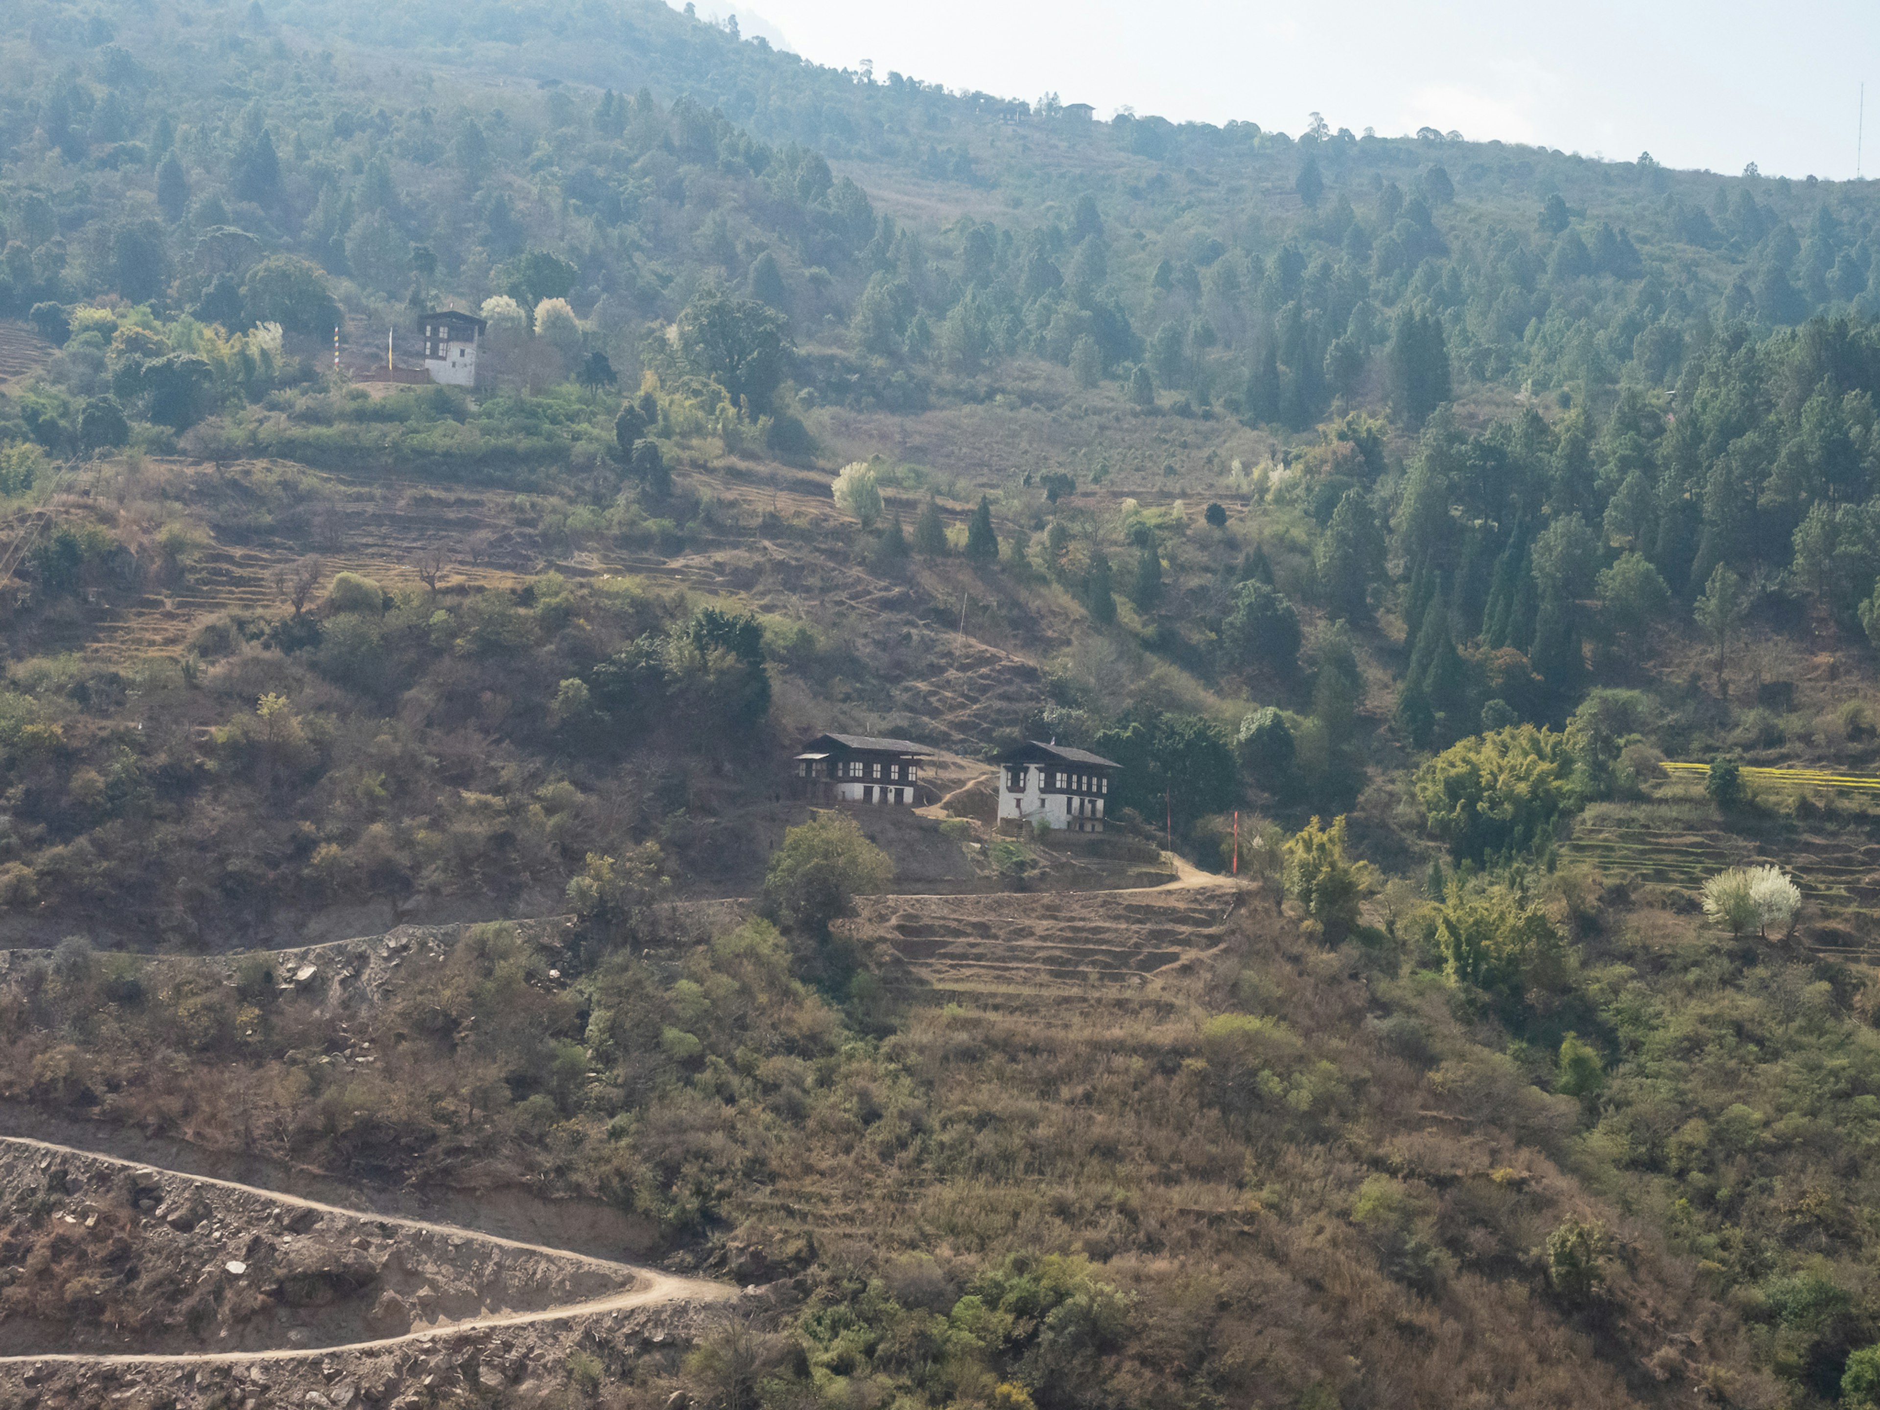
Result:
M594 1301L622 1265L0 1145L0 1355L256 1352Z

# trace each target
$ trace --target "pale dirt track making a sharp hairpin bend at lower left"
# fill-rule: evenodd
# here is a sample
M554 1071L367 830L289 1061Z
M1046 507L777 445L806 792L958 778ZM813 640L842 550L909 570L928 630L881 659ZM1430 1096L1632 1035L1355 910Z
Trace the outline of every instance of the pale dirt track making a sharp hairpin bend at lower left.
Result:
M476 1230L464 1230L455 1224L432 1224L421 1218L400 1218L397 1214L378 1214L363 1213L357 1209L346 1209L344 1205L325 1205L318 1199L301 1199L299 1196L280 1194L278 1190L265 1190L254 1184L237 1184L235 1181L218 1181L207 1175L190 1175L186 1171L165 1171L162 1166L152 1166L147 1160L122 1160L118 1156L107 1156L98 1151L85 1151L75 1145L56 1145L53 1141L34 1141L26 1136L0 1136L0 1143L8 1147L26 1149L26 1151L45 1151L49 1154L68 1154L85 1156L86 1160L100 1160L113 1166L124 1166L126 1169L154 1169L165 1175L177 1175L192 1184L212 1184L222 1190L235 1190L239 1194L259 1196L261 1199L273 1199L280 1205L290 1205L295 1209L314 1209L321 1214L340 1214L344 1218L370 1218L378 1224L397 1224L406 1230L423 1230L429 1233L442 1233L453 1239L476 1239L487 1245L496 1245L502 1248L515 1248L528 1254L545 1254L549 1258L564 1258L577 1263L588 1263L598 1269L617 1273L620 1278L630 1280L630 1286L622 1292L609 1293L607 1297L590 1297L583 1303L564 1303L560 1307L543 1307L534 1312L498 1312L491 1316L462 1318L459 1322L440 1322L432 1327L423 1327L415 1331L406 1331L399 1337L378 1337L363 1342L340 1342L329 1346L291 1346L280 1350L265 1352L36 1352L32 1355L0 1355L0 1367L6 1365L246 1365L250 1361L314 1361L320 1357L331 1357L338 1352L382 1352L395 1346L410 1346L414 1342L427 1342L440 1337L457 1337L466 1331L485 1331L496 1327L521 1327L536 1322L560 1322L573 1316L590 1316L596 1312L622 1312L634 1307L649 1307L654 1303L714 1303L737 1295L737 1290L722 1284L709 1282L705 1278L681 1278L669 1273L660 1273L656 1269L639 1267L635 1263L620 1263L611 1258L594 1258L592 1254L575 1254L566 1248L549 1248L545 1245L523 1243L521 1239L502 1239L494 1233L479 1233Z

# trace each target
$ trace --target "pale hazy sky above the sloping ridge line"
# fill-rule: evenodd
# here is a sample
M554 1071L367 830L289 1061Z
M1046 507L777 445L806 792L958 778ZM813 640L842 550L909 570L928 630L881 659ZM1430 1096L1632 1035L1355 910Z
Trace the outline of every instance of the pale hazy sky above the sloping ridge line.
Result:
M874 60L1006 98L1055 90L1109 117L1248 118L1299 133L1419 126L1679 167L1854 175L1859 85L1874 88L1869 175L1880 173L1876 0L1671 0L1534 6L1230 4L1230 0L703 0L746 36L782 34L837 68ZM1872 70L1869 73L1869 68Z

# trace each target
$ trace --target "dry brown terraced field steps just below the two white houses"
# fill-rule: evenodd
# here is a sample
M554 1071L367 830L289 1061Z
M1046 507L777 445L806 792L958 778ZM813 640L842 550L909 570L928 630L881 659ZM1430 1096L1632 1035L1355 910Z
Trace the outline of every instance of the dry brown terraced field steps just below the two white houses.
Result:
M869 897L846 929L882 938L910 996L1132 996L1190 974L1226 938L1239 893L1055 891Z

